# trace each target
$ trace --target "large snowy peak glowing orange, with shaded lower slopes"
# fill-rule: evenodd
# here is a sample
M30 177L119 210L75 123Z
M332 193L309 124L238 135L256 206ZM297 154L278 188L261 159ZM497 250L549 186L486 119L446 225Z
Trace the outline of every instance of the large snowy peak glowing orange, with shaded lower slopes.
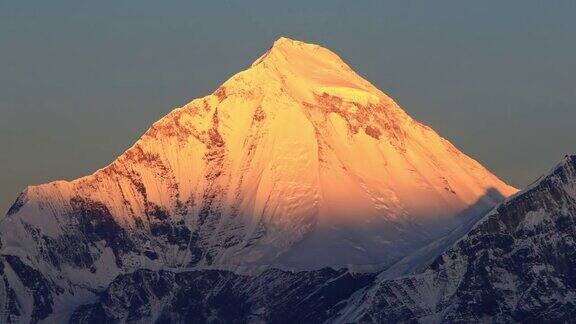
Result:
M105 168L24 190L0 224L2 316L67 320L140 269L175 291L208 268L239 287L271 268L405 274L515 192L336 54L281 38Z

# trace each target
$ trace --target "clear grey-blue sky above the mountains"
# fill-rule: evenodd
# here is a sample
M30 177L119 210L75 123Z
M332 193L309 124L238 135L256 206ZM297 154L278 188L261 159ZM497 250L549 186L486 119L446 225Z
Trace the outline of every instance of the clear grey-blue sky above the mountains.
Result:
M0 0L0 213L104 167L280 36L317 43L509 184L576 153L576 2Z

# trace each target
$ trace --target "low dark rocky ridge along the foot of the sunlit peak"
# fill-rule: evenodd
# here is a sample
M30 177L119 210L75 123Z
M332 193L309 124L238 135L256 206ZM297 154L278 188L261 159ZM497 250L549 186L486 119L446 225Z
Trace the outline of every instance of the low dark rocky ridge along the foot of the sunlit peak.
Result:
M73 323L320 323L373 274L323 269L258 276L228 271L149 271L122 275L98 302L78 308Z

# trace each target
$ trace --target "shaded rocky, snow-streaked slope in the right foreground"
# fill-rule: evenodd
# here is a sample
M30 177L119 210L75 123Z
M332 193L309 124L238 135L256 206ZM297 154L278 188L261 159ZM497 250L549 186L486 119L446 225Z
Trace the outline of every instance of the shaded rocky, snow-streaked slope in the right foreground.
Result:
M384 276L337 322L573 322L575 220L576 156L567 156L426 271Z

